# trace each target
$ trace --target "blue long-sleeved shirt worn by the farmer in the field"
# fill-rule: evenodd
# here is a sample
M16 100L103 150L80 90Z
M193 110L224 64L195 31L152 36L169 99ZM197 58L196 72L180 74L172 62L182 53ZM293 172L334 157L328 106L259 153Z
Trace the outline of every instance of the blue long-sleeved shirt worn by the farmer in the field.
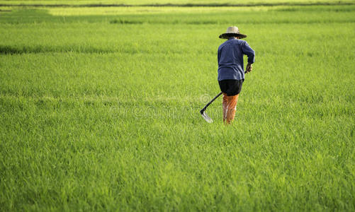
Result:
M234 37L223 42L218 47L218 81L225 79L244 79L243 55L248 57L248 63L255 61L255 52L245 40Z

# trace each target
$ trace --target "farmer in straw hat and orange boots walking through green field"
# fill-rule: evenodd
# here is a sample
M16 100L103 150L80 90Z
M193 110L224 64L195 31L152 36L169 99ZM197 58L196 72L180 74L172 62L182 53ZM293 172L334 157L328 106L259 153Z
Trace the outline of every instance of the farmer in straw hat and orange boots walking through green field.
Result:
M247 73L252 71L255 52L248 43L240 40L247 35L240 34L235 26L227 28L220 38L227 39L218 47L218 83L223 93L223 122L230 124L235 117L239 93L244 81L243 55L248 57Z

